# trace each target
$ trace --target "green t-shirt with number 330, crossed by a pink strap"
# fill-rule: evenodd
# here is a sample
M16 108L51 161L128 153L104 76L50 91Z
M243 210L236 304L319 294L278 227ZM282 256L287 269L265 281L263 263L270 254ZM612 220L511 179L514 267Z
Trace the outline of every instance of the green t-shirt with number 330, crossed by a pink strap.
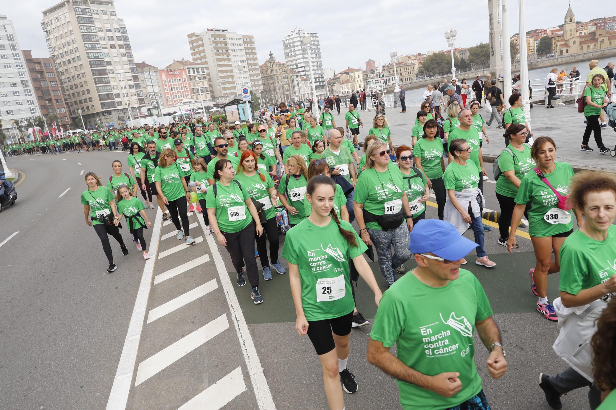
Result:
M545 177L555 190L565 196L569 190L573 168L567 163L556 162L554 164L556 164L554 172L545 174ZM531 201L529 209L530 236L544 238L573 229L573 212L559 209L558 198L534 171L527 172L524 175L514 201L516 204L527 204Z

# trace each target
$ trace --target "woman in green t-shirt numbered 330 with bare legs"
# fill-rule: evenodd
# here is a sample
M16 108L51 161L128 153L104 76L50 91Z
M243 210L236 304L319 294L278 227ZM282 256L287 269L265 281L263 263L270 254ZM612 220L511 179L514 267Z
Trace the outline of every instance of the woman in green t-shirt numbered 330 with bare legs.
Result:
M559 195L565 196L569 191L569 183L573 177L573 168L567 163L556 162L556 143L550 137L538 137L530 150L536 169L548 180ZM517 191L516 207L511 217L511 230L507 240L507 250L513 252L516 247L517 225L522 219L526 204L530 201L529 235L535 251L535 267L529 271L531 289L539 297L537 311L546 319L558 321L554 307L547 296L548 275L561 270L559 254L562 243L573 232L573 212L564 211L559 204L559 198L552 188L548 187L535 171L529 171L520 183ZM581 215L576 214L578 226L582 222ZM552 260L552 250L554 260Z

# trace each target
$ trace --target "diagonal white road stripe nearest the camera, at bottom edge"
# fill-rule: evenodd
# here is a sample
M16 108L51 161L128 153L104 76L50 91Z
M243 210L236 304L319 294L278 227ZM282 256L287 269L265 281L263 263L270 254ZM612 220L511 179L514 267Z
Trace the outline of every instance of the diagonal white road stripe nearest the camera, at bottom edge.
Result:
M245 391L246 384L241 374L241 368L237 368L188 400L177 410L218 410Z

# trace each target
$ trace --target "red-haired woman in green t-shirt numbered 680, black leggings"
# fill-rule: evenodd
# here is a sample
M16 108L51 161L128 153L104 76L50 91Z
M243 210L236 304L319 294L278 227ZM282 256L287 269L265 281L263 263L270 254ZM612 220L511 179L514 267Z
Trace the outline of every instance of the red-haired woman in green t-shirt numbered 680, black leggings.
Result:
M255 141L261 143L261 141ZM238 167L235 180L246 188L250 198L263 204L265 212L265 223L263 225L263 235L257 236L257 251L261 259L263 268L263 279L272 280L272 270L278 273L285 273L285 268L278 262L278 223L276 222L275 207L278 206L278 192L274 187L274 181L267 172L261 172L257 166L257 155L253 151L246 151L241 155L240 166ZM269 242L269 259L267 257L267 243Z

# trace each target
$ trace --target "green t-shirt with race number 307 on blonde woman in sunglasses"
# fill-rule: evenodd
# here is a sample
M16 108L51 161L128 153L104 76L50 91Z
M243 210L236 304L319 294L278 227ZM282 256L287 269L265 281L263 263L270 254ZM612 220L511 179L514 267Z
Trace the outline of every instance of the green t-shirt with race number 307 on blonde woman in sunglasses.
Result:
M390 161L385 172L374 168L362 172L355 185L354 201L363 204L363 209L371 214L397 214L402 209L402 192L402 173ZM383 230L377 222L368 222L366 227Z

